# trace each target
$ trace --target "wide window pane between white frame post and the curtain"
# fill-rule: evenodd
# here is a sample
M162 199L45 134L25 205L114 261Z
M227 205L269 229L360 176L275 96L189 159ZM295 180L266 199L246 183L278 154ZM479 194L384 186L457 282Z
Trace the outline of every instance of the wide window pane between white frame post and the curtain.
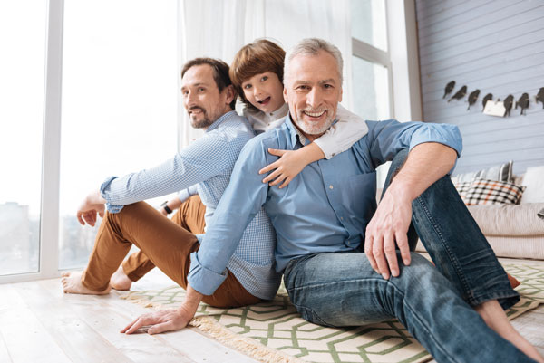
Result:
M84 266L92 250L98 226L75 218L83 197L176 153L176 24L176 2L65 2L60 269Z

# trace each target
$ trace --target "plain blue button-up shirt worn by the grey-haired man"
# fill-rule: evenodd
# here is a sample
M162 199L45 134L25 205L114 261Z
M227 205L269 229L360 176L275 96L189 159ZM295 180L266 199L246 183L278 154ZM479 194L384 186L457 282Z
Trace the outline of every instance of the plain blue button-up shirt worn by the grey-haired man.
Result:
M461 134L453 125L396 120L365 121L368 133L331 159L305 167L282 189L263 184L258 170L277 159L267 148L301 148L289 116L277 129L251 139L243 148L189 272L198 291L214 291L249 221L264 205L277 234L277 272L308 253L353 251L364 241L366 224L376 209L375 168L403 148L439 142L461 155ZM231 221L238 221L232 224ZM201 274L205 269L208 273Z

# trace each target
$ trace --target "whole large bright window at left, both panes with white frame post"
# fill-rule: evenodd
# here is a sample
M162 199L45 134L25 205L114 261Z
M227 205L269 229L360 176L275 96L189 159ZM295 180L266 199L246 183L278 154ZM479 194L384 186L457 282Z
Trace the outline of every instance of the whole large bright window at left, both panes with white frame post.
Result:
M77 223L83 197L175 155L177 10L0 2L0 283L82 267L97 229Z

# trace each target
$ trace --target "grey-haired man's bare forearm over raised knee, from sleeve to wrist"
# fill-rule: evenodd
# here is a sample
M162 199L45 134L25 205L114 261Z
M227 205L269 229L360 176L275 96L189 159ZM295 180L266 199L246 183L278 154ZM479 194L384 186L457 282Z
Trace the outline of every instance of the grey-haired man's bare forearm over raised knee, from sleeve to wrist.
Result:
M453 148L436 142L420 144L410 151L387 191L413 201L445 176L455 165L456 159L457 152Z

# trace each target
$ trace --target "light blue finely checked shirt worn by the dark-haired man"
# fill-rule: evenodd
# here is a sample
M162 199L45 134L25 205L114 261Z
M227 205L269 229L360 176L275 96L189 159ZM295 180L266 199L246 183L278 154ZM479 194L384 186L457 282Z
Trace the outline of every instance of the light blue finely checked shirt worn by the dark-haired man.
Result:
M205 219L209 227L214 223L216 206L228 186L238 154L253 136L247 119L235 111L224 114L209 126L202 138L183 148L174 158L151 169L106 179L101 194L107 201L108 211L118 213L123 205L165 196L197 184L199 196L206 205ZM238 224L238 220L231 220L230 224ZM198 237L200 248L204 248L206 242L201 240L201 235ZM263 208L258 208L254 217L244 224L235 249L228 253L227 262L219 272L222 280L227 277L225 267L228 267L252 295L272 299L280 282L280 275L274 269L275 246L276 234L270 219Z

